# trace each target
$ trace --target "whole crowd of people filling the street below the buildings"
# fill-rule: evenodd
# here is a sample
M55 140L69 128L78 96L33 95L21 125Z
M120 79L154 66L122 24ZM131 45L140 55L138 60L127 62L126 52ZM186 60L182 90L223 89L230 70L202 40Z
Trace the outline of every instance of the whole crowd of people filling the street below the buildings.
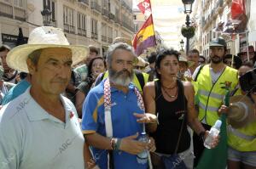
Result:
M70 45L59 28L35 28L27 44L0 48L0 168L165 169L162 159L172 155L195 168L222 114L227 167L256 168L256 90L240 81L253 72L248 49L228 54L218 37L208 59L196 49L142 58L118 37L102 56L94 46Z

